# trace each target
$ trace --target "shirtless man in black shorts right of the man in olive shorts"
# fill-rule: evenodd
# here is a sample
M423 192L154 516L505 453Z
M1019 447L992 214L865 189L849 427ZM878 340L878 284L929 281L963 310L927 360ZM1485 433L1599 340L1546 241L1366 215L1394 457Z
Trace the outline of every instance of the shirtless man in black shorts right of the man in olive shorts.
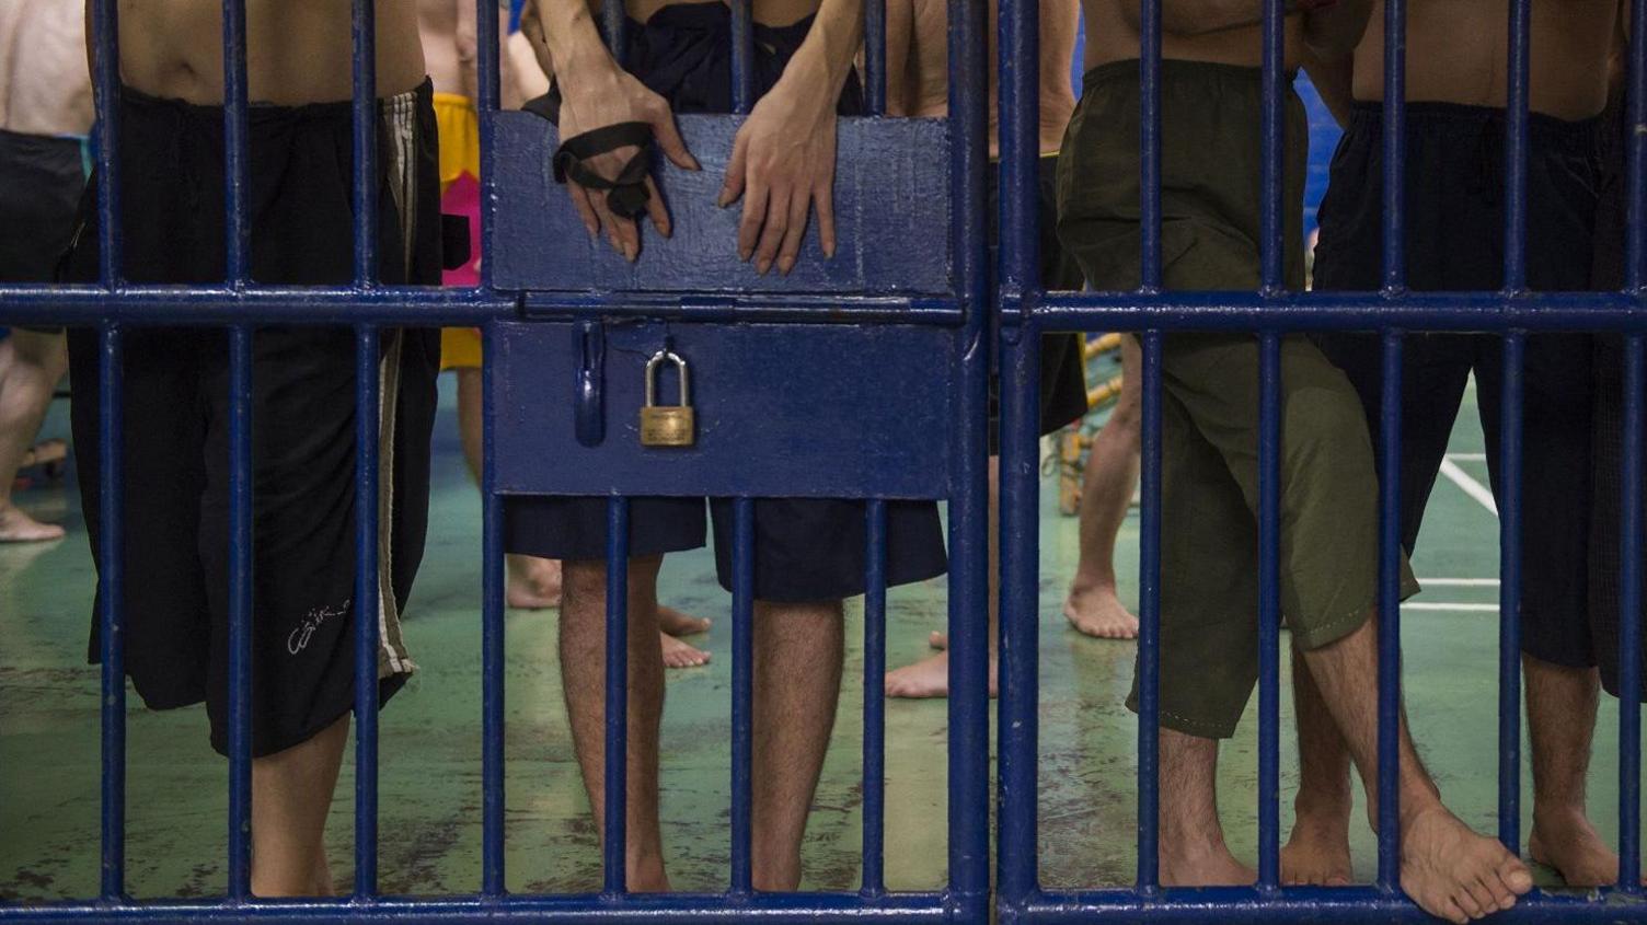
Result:
M1382 285L1383 13L1372 15L1354 61L1321 84L1354 94L1346 138L1321 204L1318 290ZM1589 288L1601 183L1599 114L1619 0L1533 3L1527 183L1527 285ZM1407 13L1407 285L1497 290L1504 283L1505 0L1411 3ZM1382 387L1377 336L1319 337L1360 392L1377 435ZM1411 334L1402 374L1402 542L1411 551L1466 380L1476 377L1487 466L1499 494L1502 341ZM1584 815L1584 777L1599 676L1588 619L1591 337L1527 339L1523 426L1522 670L1532 739L1533 828L1528 853L1570 885L1617 879L1619 859ZM1594 645L1609 645L1596 639ZM1285 856L1288 879L1349 877L1349 764L1295 657L1303 785Z

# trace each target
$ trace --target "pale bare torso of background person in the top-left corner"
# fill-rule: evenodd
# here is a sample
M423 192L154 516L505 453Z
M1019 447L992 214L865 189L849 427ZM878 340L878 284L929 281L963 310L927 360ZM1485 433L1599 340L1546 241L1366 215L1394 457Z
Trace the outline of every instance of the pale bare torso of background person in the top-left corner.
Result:
M91 125L81 0L0 0L0 128L86 135Z

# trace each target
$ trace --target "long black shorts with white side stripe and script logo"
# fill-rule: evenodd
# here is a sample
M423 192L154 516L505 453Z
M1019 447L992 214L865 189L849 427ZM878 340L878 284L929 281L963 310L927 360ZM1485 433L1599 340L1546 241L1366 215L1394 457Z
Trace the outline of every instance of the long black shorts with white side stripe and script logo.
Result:
M252 278L339 285L354 277L349 104L254 107ZM379 253L389 283L440 283L438 140L428 84L380 104ZM122 237L133 283L224 278L222 110L120 99ZM92 181L96 186L96 179ZM97 278L96 191L64 267ZM125 336L125 670L155 709L206 701L227 749L227 334L147 328ZM413 670L400 637L423 558L436 331L385 331L379 588L380 698ZM99 556L97 334L69 332L72 426L92 555ZM252 754L306 741L354 703L354 334L260 328L252 344ZM99 563L100 566L102 563ZM99 581L99 596L107 588ZM99 660L92 621L91 660Z

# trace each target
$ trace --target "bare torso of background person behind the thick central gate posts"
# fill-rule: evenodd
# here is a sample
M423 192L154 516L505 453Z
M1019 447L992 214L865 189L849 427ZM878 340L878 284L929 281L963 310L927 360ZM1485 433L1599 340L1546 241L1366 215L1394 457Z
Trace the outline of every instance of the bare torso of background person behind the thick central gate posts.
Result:
M995 26L998 0L990 0L990 156L998 153L1000 105L996 95ZM1077 0L1041 3L1041 151L1057 151L1075 112L1069 66L1075 56L1080 8ZM949 3L947 0L888 2L888 95L894 112L942 117L949 112ZM891 51L896 49L896 51Z

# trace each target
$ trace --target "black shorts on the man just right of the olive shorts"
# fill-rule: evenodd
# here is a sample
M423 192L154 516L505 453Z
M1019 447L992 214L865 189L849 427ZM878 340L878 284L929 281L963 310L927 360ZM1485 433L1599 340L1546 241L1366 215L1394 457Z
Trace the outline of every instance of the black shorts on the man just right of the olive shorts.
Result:
M1321 202L1318 290L1382 285L1382 109L1357 104L1332 155ZM1527 161L1527 283L1589 288L1599 122L1532 115ZM1407 107L1407 285L1416 291L1497 290L1504 283L1504 110ZM1318 337L1360 393L1379 441L1380 346L1375 334ZM1469 374L1476 374L1487 471L1499 487L1502 341L1410 334L1402 367L1402 543L1418 540ZM1522 449L1522 650L1556 665L1594 665L1588 622L1591 337L1527 339Z

